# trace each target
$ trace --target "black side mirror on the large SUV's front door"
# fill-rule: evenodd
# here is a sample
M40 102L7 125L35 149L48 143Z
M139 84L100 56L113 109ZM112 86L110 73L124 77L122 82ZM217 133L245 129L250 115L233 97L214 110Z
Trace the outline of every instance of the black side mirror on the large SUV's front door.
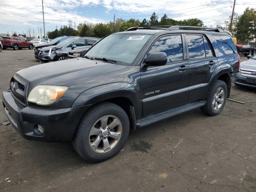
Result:
M161 66L167 63L167 55L165 52L154 52L149 54L145 59L145 64L148 66Z

